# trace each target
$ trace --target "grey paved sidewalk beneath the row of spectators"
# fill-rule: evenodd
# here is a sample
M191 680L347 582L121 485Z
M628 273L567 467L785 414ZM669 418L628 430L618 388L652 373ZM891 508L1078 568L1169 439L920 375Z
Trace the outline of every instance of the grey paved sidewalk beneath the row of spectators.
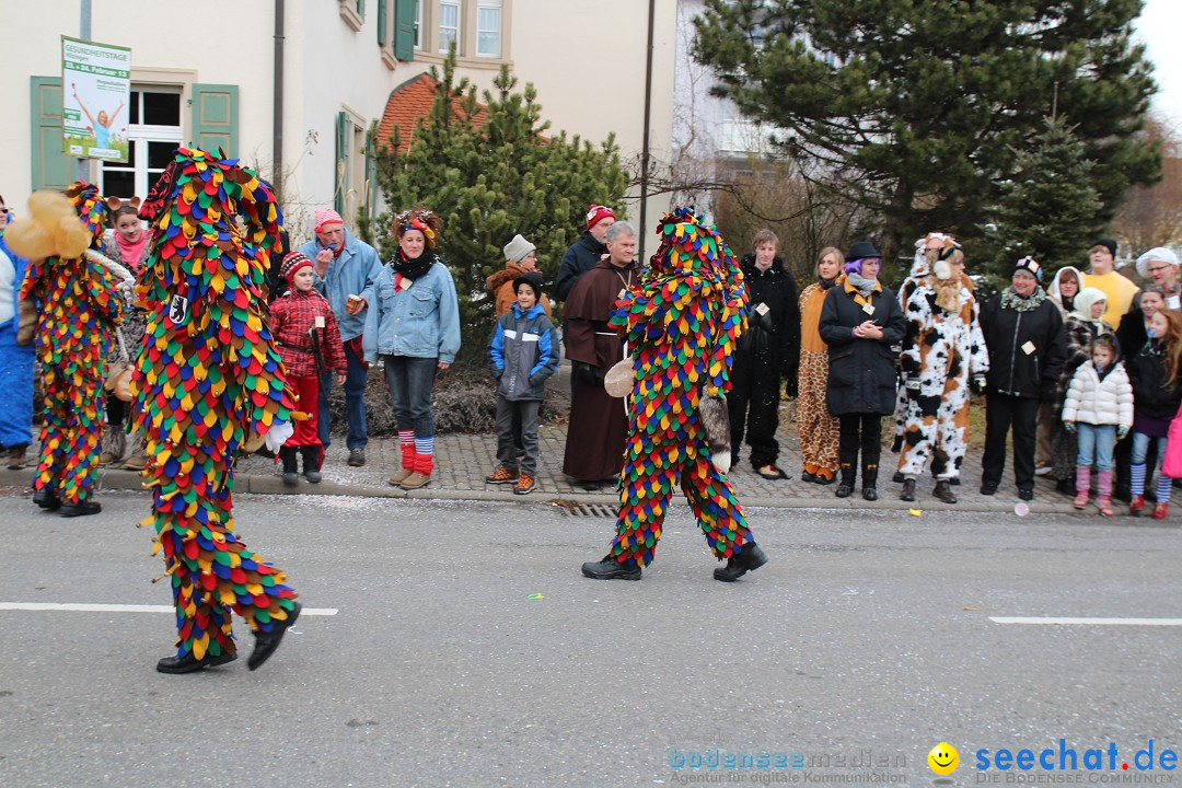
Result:
M1007 463L1006 481L996 495L985 496L980 488L981 467L980 452L965 461L963 483L954 488L960 503L949 506L931 496L934 482L921 480L917 489L917 501L904 503L898 500L900 484L890 481L897 455L883 452L883 470L878 482L879 500L868 502L862 500L860 486L847 499L834 497L836 484L821 487L801 482L799 450L795 431L791 425L780 425L777 435L781 445L780 467L792 478L768 481L758 476L748 462L742 462L729 474L739 500L748 507L775 507L785 509L798 508L838 508L838 509L894 509L928 512L998 512L1013 515L1018 503L1018 490L1013 484L1012 468ZM540 432L541 463L538 473L538 487L530 495L514 495L508 486L500 487L485 483L485 476L496 467L496 436L494 435L439 435L435 438L436 464L431 483L418 490L405 491L391 487L387 478L401 463L397 437L371 437L366 448L366 464L362 468L350 468L346 463L348 449L344 436L337 436L327 451L324 463L324 481L320 484L309 484L304 478L296 488L285 487L280 480L279 467L274 461L251 456L239 461L236 490L239 493L258 494L317 494L317 495L355 495L364 497L407 497L417 500L450 501L521 501L521 502L557 502L573 506L576 503L602 504L613 508L618 502L612 489L587 493L580 487L572 487L571 481L561 473L563 452L566 447L566 425L546 425ZM746 460L747 447L743 447ZM30 449L35 456L35 447ZM0 486L19 487L30 484L32 468L7 470L0 468ZM102 469L98 474L100 489L142 489L139 475L128 470ZM677 494L677 499L684 499ZM1054 484L1047 478L1039 478L1035 486L1035 497L1028 504L1032 514L1072 514L1071 499L1054 491ZM602 510L599 512L602 514ZM1087 516L1096 515L1095 507L1087 509ZM1080 515L1085 516L1085 515Z

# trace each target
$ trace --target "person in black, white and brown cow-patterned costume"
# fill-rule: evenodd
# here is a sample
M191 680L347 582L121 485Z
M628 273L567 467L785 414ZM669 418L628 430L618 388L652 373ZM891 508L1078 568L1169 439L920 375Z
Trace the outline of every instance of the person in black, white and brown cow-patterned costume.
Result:
M936 254L931 272L903 305L907 330L901 366L907 389L907 429L898 470L900 499L915 500L916 478L931 461L933 491L956 503L952 482L960 477L968 449L969 388L985 391L989 357L978 321L972 280L959 246Z

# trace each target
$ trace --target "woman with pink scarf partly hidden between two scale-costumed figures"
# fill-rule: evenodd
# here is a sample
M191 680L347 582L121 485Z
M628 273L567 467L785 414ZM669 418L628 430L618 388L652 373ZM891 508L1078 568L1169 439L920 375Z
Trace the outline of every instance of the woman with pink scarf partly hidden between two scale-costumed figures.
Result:
M113 229L103 234L103 248L106 255L130 271L136 279L144 268L148 252L151 249L151 233L144 232L143 222L136 211L139 209L139 197L132 197L129 202L123 202L118 197L108 197L106 207L111 211ZM115 365L134 365L136 354L143 345L144 330L148 325L148 313L135 308L134 304L128 305L126 317L119 326L121 340L116 340L110 357L106 359L108 370L115 372ZM113 380L108 377L108 383ZM111 465L123 461L126 452L128 439L124 435L124 422L126 421L128 404L119 399L115 391L106 392L106 429L103 431L103 452L98 456L99 465ZM148 462L147 445L138 434L131 436L131 456L123 463L125 470L143 470Z

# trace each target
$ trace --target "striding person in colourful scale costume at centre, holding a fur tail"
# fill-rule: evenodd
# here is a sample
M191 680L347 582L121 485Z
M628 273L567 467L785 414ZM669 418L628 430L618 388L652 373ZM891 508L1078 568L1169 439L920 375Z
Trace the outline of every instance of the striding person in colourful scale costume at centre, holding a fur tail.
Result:
M634 384L621 473L616 538L589 578L639 580L652 561L665 509L678 481L710 551L738 580L767 562L727 481L729 425L722 397L730 388L735 343L746 330L747 291L722 236L677 208L657 228L661 247L639 282L617 302L611 325L626 333ZM714 415L717 421L713 422ZM719 451L712 451L707 430ZM720 467L715 467L715 465Z

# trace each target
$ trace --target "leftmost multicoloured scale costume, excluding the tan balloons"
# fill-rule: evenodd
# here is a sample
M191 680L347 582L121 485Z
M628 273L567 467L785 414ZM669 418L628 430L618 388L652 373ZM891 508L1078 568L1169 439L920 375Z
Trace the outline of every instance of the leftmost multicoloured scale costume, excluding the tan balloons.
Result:
M95 491L106 356L126 301L118 291L118 267L111 261L104 265L98 253L106 219L98 189L79 181L66 190L66 197L91 234L90 249L78 258L48 256L31 262L20 297L32 299L38 308L37 358L41 363L45 421L33 489L78 506L90 501Z

